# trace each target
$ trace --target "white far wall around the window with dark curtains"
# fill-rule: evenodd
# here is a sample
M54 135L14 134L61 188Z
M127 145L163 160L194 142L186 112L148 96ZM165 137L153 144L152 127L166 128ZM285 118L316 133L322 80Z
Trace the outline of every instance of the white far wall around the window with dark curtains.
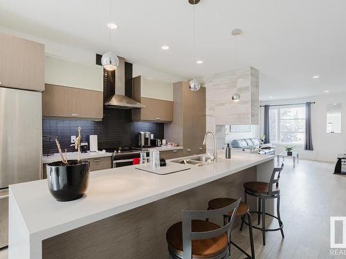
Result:
M304 151L304 145L295 145L300 153L300 158L307 160L318 160L335 162L338 153L346 153L346 93L325 94L313 97L298 99L282 99L261 102L264 104L295 104L300 102L316 102L311 104L311 131L313 141L313 151ZM327 133L327 105L340 103L343 105L342 130L343 133ZM264 112L260 112L260 128L263 133ZM276 152L282 152L284 145L278 144Z

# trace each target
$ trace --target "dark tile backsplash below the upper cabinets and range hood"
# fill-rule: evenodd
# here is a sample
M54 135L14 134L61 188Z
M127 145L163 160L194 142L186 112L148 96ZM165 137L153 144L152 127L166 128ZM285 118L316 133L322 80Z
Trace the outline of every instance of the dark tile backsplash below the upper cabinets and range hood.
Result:
M131 110L104 108L102 122L91 122L75 119L43 119L44 154L57 152L55 137L58 138L62 150L74 151L71 135L78 135L77 128L82 128L82 142L88 142L89 135L98 135L98 148L118 146L137 146L138 132L149 131L158 139L164 138L163 124L154 122L132 122ZM51 136L51 140L48 137Z

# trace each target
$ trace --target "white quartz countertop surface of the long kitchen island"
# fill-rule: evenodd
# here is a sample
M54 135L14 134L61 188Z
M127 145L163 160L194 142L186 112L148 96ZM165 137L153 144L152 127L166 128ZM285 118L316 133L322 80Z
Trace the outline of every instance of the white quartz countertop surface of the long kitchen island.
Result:
M138 165L94 171L86 195L72 202L57 202L47 180L10 185L10 196L30 242L37 242L273 160L269 155L237 152L225 160L224 153L219 154L215 164L189 165L190 170L170 175L140 171L135 169ZM168 160L167 166L171 164Z

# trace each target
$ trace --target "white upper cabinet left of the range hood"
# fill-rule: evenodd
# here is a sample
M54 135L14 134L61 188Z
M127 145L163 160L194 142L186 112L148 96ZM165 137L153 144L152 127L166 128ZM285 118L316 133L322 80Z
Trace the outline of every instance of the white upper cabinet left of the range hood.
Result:
M44 57L44 82L58 86L103 92L103 68L82 64L62 57Z

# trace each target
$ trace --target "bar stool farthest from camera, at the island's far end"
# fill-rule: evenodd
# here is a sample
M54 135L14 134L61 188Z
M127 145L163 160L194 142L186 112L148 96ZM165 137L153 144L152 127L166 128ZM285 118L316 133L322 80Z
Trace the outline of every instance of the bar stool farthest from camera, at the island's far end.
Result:
M258 224L260 224L261 214L262 214L262 227L255 227L254 229L259 229L262 231L263 245L266 244L266 231L281 231L282 238L284 238L284 224L280 218L280 189L279 189L279 180L280 173L284 169L284 164L281 167L273 169L271 174L270 182L246 182L244 183L244 197L245 202L247 201L247 195L258 198L258 211L250 211L250 213L257 213L258 215ZM266 213L266 200L268 199L277 199L276 211L277 217L275 215ZM266 229L266 215L269 215L273 218L276 218L279 222L279 227L277 229ZM248 222L245 222L248 224Z

